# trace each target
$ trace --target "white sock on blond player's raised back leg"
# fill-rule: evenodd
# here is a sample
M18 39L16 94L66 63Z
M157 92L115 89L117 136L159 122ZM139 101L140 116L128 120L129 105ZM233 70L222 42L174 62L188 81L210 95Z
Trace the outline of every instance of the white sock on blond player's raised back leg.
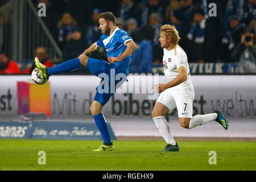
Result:
M191 121L189 123L189 129L192 129L193 127L196 127L196 126L204 125L205 123L213 121L216 118L217 118L217 113L195 115L194 117L191 118Z

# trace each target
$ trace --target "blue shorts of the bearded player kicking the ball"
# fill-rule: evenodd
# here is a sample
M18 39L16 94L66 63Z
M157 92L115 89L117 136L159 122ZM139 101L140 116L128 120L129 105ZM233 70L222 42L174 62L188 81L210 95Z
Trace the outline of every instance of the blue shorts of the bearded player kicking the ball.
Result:
M104 89L104 86L102 87L102 86L98 85L96 88L97 93L96 93L96 96L94 97L94 101L98 101L102 106L104 106L109 101L110 97L113 96L113 94L114 94L113 91L115 92L115 86L118 84L118 82L120 82L120 81L124 82L126 80L122 80L122 79L115 80L115 76L117 76L117 73L122 73L122 72L118 72L118 69L115 68L114 64L110 64L102 59L98 60L98 59L93 59L93 58L89 57L86 67L94 75L101 78L100 85L102 84L104 79L106 79L106 78L102 77L104 75L104 73L105 73L105 76L108 76L109 88L106 88L106 90L108 90L108 91L102 93L102 89ZM112 71L110 71L111 69L112 69ZM127 75L127 74L125 74L125 75ZM110 85L111 85L110 78L114 79L114 88L112 88L112 89L110 89Z

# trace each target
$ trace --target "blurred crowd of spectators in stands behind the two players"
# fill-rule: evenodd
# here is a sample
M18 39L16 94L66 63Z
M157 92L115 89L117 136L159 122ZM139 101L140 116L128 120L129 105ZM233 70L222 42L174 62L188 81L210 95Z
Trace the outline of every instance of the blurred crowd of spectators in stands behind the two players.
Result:
M162 63L163 50L158 39L163 24L175 25L181 38L179 45L187 53L189 63L240 62L244 72L247 68L256 72L256 0L35 0L34 3L46 4L47 16L43 20L63 51L64 61L79 56L100 39L98 16L112 11L117 16L117 26L137 43L131 72L150 73L153 64ZM210 3L216 6L208 7ZM2 26L4 20L0 14L0 37ZM0 70L5 68L1 55ZM90 56L106 59L104 49Z

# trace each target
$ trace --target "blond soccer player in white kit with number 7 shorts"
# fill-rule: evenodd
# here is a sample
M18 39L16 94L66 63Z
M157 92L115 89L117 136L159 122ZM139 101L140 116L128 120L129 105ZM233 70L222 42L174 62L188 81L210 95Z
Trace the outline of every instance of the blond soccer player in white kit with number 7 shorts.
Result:
M156 92L161 93L156 100L152 117L164 140L166 148L162 151L179 151L179 146L170 133L169 125L164 115L171 113L177 107L181 127L192 129L210 121L217 121L224 129L228 129L228 121L221 110L214 113L195 115L193 113L194 88L189 73L186 53L178 45L179 33L175 26L164 24L161 27L159 42L164 51L163 67L166 84L156 85Z

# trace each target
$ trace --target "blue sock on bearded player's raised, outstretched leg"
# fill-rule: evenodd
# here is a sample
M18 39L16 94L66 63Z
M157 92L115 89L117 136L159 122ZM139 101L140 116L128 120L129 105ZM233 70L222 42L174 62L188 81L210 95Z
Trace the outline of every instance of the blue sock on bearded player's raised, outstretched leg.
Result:
M56 75L58 73L75 71L79 68L81 68L80 60L78 58L75 58L69 61L65 61L64 63L61 63L56 67L48 68L47 75L51 76Z

